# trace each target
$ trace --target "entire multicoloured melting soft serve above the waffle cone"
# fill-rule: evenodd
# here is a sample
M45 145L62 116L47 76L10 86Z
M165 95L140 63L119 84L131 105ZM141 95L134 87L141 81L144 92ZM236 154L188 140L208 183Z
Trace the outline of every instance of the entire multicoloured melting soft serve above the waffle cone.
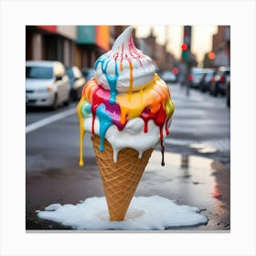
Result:
M80 119L80 165L84 132L106 139L113 162L123 148L142 157L160 142L164 163L165 136L174 112L168 86L155 73L153 60L135 48L132 27L123 31L112 49L95 62L95 77L85 84L77 112Z

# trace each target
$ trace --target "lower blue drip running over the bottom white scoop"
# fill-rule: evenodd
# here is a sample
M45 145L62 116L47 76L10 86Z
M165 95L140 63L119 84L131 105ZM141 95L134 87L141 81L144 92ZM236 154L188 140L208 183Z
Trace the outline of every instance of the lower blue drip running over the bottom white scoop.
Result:
M96 115L98 116L99 122L100 122L100 138L101 138L100 152L103 152L105 134L107 133L108 128L112 125L112 118L106 112L106 106L102 103L97 108Z

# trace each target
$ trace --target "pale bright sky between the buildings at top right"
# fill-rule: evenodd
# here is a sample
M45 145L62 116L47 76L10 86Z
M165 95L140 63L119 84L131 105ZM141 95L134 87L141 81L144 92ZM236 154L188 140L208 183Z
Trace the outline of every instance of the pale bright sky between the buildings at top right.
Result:
M180 59L181 45L183 41L182 26L135 26L136 37L147 37L151 29L156 37L156 42L165 44L168 38L167 50L173 53L176 59ZM191 38L191 52L196 54L197 61L201 63L205 53L212 48L212 35L217 33L217 26L193 26Z

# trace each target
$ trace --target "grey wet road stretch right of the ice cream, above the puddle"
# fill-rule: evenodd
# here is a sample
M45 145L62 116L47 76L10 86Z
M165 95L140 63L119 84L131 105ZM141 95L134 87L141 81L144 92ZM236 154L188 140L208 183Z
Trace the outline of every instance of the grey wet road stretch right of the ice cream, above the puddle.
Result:
M225 97L171 85L176 106L165 148L182 155L204 156L230 164L230 110Z

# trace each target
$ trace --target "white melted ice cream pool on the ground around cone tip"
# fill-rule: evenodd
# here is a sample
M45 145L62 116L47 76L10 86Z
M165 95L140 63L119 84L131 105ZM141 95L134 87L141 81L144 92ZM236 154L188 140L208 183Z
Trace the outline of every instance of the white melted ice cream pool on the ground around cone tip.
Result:
M206 224L208 219L198 212L198 208L179 206L165 197L133 197L125 219L110 221L106 198L90 197L77 205L52 204L37 211L37 216L79 230L163 230Z

